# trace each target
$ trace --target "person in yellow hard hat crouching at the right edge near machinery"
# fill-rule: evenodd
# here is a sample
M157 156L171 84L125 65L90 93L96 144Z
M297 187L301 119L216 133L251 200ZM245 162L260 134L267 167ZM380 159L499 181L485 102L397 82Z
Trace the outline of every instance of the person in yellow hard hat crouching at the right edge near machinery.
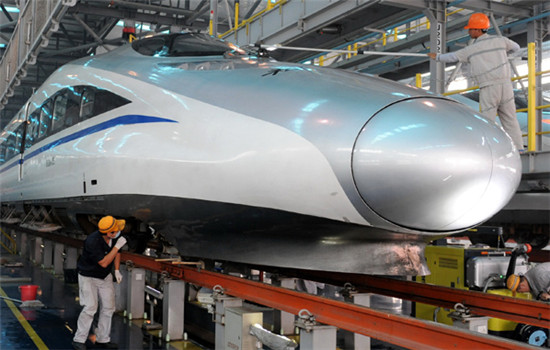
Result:
M508 276L506 287L512 292L529 292L535 299L550 301L550 262L537 264L524 276Z

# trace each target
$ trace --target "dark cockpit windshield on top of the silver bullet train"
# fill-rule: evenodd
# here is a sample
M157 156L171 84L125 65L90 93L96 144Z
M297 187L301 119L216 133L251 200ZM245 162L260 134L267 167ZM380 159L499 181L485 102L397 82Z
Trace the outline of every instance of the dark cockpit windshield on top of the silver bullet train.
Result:
M134 41L132 47L146 56L241 56L245 50L205 34L185 33L160 35Z

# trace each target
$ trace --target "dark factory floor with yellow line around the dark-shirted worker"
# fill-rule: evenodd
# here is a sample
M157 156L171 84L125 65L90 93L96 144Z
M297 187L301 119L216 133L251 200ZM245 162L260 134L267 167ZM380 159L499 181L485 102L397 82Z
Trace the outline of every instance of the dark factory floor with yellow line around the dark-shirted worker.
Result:
M65 283L64 276L55 276L51 270L35 266L4 250L0 252L0 260L0 349L72 349L76 320L81 310L78 284ZM42 307L21 307L19 287L24 285L40 287L36 299L43 304ZM111 342L118 344L121 350L203 349L190 341L166 343L143 332L142 322L115 314Z

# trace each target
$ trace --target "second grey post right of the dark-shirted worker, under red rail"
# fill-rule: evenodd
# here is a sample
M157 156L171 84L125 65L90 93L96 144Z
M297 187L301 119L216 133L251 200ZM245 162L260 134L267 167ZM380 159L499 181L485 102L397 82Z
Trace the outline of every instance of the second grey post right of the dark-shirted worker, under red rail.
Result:
M183 339L185 282L168 280L162 301L162 334L166 341Z

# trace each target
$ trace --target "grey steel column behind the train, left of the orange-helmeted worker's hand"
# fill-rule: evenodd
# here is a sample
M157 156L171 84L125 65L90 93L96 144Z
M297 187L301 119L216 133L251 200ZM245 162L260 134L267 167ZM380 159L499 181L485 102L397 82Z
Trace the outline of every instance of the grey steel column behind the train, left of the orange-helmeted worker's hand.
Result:
M430 51L438 54L447 51L447 18L445 2L431 0L424 14L431 22ZM445 64L430 60L430 91L441 94L445 91Z

